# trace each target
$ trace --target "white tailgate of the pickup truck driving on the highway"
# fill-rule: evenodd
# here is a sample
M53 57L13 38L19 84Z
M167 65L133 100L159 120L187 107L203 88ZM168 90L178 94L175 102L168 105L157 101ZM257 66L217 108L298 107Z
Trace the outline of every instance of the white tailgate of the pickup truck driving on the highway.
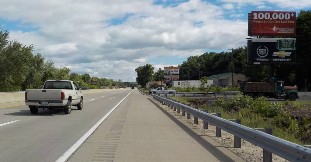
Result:
M28 100L61 100L61 90L57 89L28 89Z

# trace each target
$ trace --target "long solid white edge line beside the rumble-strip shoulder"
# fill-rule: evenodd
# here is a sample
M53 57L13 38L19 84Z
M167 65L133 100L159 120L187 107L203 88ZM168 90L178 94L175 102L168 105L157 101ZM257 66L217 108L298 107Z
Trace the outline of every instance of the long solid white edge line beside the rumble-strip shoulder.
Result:
M131 94L128 93L128 95ZM128 96L126 95L118 104L116 104L103 118L101 118L89 131L87 131L75 144L73 144L61 157L58 158L55 162L65 162L67 159L82 145L87 138L91 136L91 134L100 126L101 123L116 109L119 104Z

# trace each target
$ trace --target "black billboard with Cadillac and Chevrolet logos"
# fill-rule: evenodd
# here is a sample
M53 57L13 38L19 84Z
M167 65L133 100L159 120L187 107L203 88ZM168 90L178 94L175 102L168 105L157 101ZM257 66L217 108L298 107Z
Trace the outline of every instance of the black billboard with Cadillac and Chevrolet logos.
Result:
M252 38L248 40L248 63L294 62L296 39Z

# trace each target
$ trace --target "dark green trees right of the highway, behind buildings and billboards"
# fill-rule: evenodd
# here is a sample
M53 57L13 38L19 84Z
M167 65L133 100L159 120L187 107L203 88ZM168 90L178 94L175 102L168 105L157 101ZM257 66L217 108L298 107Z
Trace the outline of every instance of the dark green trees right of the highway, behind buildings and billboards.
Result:
M274 76L284 80L286 85L297 85L299 90L305 87L311 89L311 10L300 11L296 20L297 53L296 61L290 64L275 64ZM232 63L232 51L203 53L200 56L190 56L179 66L179 80L199 80L204 76L232 72L242 73L248 81L268 81L269 65L247 64L247 46L233 50L234 61ZM146 86L149 81L163 81L164 70L159 68L153 72L154 67L146 64L137 67L137 82Z

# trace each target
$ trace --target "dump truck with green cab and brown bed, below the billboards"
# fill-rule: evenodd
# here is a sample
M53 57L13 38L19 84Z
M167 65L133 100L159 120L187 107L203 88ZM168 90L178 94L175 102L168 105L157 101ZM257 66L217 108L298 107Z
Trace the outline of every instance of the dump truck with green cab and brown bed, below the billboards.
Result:
M275 79L271 79L270 82L241 82L240 91L253 98L266 96L290 101L299 98L296 86L284 86L284 81Z

